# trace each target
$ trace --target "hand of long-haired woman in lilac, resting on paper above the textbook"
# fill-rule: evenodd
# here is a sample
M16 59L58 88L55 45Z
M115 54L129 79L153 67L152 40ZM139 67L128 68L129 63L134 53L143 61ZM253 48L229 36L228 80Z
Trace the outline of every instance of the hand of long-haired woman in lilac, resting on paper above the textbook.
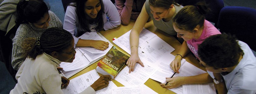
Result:
M91 46L95 49L99 50L105 50L108 48L108 42L102 41L102 40L94 40L93 43L91 43Z

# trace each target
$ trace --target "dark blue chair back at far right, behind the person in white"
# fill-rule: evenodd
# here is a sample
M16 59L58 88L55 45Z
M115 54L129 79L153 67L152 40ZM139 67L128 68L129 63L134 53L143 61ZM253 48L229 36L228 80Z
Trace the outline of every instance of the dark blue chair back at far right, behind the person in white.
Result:
M256 10L247 7L227 6L220 10L220 32L235 34L256 51Z

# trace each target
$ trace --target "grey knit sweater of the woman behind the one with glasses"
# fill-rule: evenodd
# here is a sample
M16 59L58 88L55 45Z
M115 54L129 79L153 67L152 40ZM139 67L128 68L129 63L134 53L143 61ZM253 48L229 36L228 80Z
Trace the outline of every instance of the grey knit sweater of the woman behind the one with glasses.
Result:
M49 27L59 27L62 28L62 22L60 19L52 12L48 11L50 15ZM13 41L12 48L12 66L15 70L19 70L21 64L24 62L26 57L22 57L23 50L21 49L21 44L26 38L37 38L40 37L45 29L38 29L32 24L20 24L20 27L17 29Z

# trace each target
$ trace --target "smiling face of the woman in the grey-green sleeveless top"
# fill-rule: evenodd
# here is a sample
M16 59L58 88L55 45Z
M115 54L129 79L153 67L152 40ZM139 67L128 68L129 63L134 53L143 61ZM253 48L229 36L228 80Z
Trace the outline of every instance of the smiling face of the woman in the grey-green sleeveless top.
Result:
M157 20L160 21L162 18L168 18L168 14L170 9L164 9L164 8L160 8L160 7L153 7L153 6L149 6L150 7L150 12L153 14L153 17Z

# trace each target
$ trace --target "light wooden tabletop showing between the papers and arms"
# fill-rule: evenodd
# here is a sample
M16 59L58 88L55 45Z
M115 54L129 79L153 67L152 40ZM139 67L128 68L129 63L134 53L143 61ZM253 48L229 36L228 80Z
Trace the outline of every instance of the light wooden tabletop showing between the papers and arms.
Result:
M115 28L115 29L111 29L111 30L107 30L107 31L100 31L100 34L102 34L106 39L108 39L114 46L117 46L116 44L114 44L112 42L112 39L114 37L118 38L121 35L125 34L126 32L128 32L129 30L131 30L134 26L135 21L131 20L130 23L128 25L120 25L119 27ZM172 47L174 47L174 51L171 53L173 55L176 55L181 44L179 43L179 41L174 38L173 36L157 29L154 24L153 21L150 21L148 23L146 23L145 28L148 29L149 31L153 32L154 34L156 34L158 37L160 37L161 39L163 39L165 42L167 42L168 44L170 44ZM118 46L117 46L118 47ZM119 48L119 47L118 47ZM120 49L120 48L119 48ZM120 49L122 50L122 49ZM123 51L123 50L122 50ZM125 51L123 51L125 52ZM188 61L189 63L195 65L196 67L205 70L204 67L202 67L202 65L199 64L199 62L196 60L196 58L189 53L188 55L184 56L184 58L186 59L186 61ZM171 62L170 62L171 63ZM97 67L97 62L95 62L94 64L90 65L89 67L87 67L86 69L80 71L79 73L77 73L76 75L72 76L69 78L69 80L80 76L90 70L96 69ZM206 71L206 70L205 70ZM101 74L99 74L101 76ZM121 83L119 83L116 80L112 80L117 86L123 86ZM145 82L145 85L150 87L152 90L156 91L159 94L175 94L173 91L168 90L167 88L163 88L162 86L160 86L160 82L154 81L152 79L149 79Z

